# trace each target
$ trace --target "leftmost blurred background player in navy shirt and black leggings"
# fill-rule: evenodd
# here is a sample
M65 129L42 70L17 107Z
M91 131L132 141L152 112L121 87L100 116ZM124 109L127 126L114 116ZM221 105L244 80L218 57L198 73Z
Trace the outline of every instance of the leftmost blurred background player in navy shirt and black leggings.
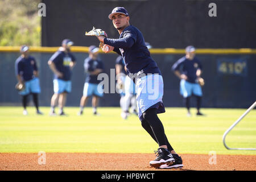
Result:
M27 115L27 99L30 94L36 107L36 114L43 114L39 110L38 94L41 92L39 84L39 71L36 66L35 58L29 55L29 47L23 45L20 48L21 55L15 61L15 74L18 84L24 85L24 89L19 91L22 95L23 114Z

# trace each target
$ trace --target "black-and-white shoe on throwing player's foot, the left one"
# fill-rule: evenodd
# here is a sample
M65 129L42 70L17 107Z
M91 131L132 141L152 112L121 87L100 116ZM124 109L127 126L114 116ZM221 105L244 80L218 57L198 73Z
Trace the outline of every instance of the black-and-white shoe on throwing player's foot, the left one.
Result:
M158 151L155 151L155 154L155 160L150 161L150 166L154 168L159 168L163 164L171 165L175 162L174 157L166 148L158 148Z

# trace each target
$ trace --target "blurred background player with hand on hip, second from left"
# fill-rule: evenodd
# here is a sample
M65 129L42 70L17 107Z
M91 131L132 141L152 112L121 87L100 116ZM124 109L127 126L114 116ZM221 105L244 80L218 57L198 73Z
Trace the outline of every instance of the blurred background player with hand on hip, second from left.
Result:
M71 92L72 68L76 64L75 56L70 51L73 42L64 39L62 46L55 52L48 61L49 68L54 73L53 90L51 98L51 110L49 115L55 114L55 106L59 101L59 115L65 115L63 107L67 100L67 93Z

